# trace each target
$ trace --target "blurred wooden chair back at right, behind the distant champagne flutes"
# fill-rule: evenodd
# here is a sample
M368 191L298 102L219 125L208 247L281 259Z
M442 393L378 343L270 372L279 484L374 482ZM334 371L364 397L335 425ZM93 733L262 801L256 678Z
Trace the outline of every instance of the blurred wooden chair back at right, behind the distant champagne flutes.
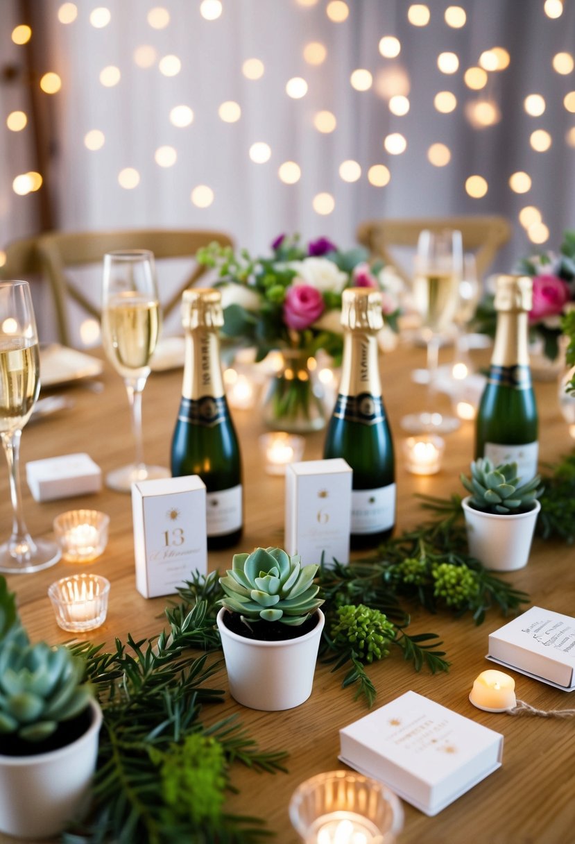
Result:
M497 252L512 234L505 217L430 217L421 219L373 219L357 228L357 241L367 246L373 257L381 257L391 264L406 284L411 283L409 273L395 259L393 247L415 247L420 231L455 229L461 232L465 252L474 252L477 277L482 279Z

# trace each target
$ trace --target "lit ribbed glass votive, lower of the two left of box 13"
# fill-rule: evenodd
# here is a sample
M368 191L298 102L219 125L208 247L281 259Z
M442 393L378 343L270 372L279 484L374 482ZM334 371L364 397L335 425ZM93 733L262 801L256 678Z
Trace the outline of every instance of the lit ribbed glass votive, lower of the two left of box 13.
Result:
M85 633L103 625L108 612L110 581L93 574L62 577L48 588L62 630Z

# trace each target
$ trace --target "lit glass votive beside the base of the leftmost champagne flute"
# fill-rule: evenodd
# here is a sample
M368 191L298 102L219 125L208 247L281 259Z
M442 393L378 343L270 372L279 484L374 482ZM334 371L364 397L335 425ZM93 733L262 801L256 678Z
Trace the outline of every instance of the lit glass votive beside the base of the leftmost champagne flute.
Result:
M68 510L54 519L62 557L69 563L89 563L104 552L110 517L98 510Z

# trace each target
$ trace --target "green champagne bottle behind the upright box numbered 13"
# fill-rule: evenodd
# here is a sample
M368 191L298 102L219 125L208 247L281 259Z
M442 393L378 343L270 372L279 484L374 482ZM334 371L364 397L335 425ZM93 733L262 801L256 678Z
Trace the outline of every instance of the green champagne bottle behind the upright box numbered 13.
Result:
M238 437L223 390L219 290L191 288L182 297L184 384L172 439L172 475L197 474L207 490L207 547L238 543L243 494Z

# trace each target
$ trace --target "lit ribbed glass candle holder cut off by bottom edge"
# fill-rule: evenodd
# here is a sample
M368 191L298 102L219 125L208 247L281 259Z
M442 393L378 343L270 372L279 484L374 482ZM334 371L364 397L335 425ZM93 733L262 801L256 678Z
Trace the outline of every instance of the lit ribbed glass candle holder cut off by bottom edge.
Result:
M403 809L381 782L355 771L327 771L296 788L289 819L305 844L393 844Z

